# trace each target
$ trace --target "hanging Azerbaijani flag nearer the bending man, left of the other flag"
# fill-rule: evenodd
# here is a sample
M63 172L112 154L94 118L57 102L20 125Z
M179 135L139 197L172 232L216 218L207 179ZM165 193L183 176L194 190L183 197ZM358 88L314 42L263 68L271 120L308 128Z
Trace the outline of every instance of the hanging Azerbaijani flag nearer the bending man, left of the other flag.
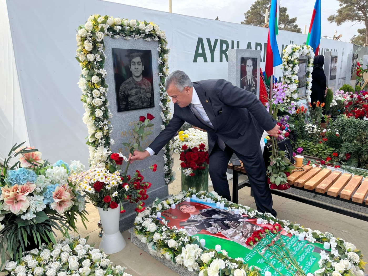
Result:
M270 21L268 24L268 38L266 50L266 79L273 74L273 67L282 63L279 47L277 46L276 35L279 34L277 27L277 0L271 0Z

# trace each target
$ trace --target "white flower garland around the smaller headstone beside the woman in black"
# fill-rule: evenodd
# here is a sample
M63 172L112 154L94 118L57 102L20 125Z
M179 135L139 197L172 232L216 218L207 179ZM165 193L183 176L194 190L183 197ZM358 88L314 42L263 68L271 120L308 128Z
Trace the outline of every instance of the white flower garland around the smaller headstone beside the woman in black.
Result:
M282 51L282 83L287 84L286 96L289 97L289 102L296 100L298 98L298 69L299 69L299 57L307 56L308 66L307 66L307 81L305 86L307 87L306 94L309 102L311 101L311 88L312 88L312 71L313 71L313 61L314 52L313 48L309 45L288 45Z

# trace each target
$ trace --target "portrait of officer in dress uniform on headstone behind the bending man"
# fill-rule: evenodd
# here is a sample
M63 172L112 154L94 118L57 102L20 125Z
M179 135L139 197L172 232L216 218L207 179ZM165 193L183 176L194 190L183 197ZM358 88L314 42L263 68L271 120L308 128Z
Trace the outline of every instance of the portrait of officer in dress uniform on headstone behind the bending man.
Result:
M258 85L257 58L242 57L240 64L240 87L256 95Z

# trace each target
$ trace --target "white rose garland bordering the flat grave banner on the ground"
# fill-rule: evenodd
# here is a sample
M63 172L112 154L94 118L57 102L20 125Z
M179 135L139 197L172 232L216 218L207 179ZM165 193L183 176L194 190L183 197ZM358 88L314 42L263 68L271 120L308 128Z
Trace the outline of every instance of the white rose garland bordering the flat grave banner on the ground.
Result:
M259 268L248 266L247 263L244 263L243 258L230 258L225 250L221 252L216 252L213 249L206 250L195 236L188 236L185 229L177 229L175 226L170 229L164 219L161 221L156 219L157 212L167 210L171 204L178 204L194 194L197 198L203 199L204 202L210 198L212 203L222 202L228 209L238 209L240 215L245 214L249 217L261 218L262 224L269 223L273 226L277 224L287 233L293 235L303 234L305 239L311 243L315 241L329 242L331 252L321 251L321 259L318 262L320 269L314 272L316 276L332 275L331 273L335 270L338 270L341 273L340 275L352 273L351 275L364 276L363 268L366 263L362 260L361 251L357 250L355 245L340 238L335 238L331 233L303 228L300 224L291 223L289 220L276 219L270 213L260 213L248 206L227 201L227 199L217 195L216 192L196 192L191 189L182 191L161 202L157 199L153 202L152 207L142 209L135 218L134 232L143 243L147 244L152 255L165 257L173 263L186 266L190 271L199 270L199 276L261 276ZM242 272L244 273L240 274Z

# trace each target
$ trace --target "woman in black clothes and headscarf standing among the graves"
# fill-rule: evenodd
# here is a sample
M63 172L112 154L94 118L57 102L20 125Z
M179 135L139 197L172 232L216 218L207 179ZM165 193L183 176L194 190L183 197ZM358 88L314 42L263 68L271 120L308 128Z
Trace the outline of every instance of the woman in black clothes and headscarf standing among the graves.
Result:
M314 102L325 102L327 94L326 76L323 71L323 64L325 63L325 57L321 54L314 57L314 66L312 72L312 93L311 93L311 105L314 109ZM325 112L323 112L325 114Z

